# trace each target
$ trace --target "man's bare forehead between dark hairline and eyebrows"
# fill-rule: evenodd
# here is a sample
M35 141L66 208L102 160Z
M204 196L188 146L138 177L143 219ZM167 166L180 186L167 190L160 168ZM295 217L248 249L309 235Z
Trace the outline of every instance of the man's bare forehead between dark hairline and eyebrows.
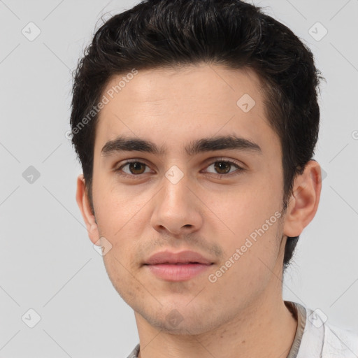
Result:
M266 120L262 84L250 69L197 65L122 73L103 96L108 103L99 113L95 153L117 136L182 147L215 134L278 140Z

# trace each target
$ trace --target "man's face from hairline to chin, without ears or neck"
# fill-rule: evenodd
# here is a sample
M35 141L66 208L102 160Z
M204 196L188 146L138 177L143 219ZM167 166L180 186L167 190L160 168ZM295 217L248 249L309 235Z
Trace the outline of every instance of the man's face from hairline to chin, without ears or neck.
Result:
M252 71L198 65L133 77L103 92L90 238L111 245L106 270L137 320L200 334L281 292L280 141ZM203 259L175 256L187 250ZM150 262L157 252L176 265Z

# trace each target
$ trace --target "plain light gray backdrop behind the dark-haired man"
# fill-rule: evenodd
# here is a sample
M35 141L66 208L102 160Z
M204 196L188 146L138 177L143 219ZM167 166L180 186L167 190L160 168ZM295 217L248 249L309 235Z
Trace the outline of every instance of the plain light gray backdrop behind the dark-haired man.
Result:
M75 199L81 169L65 136L78 57L102 15L135 3L0 1L0 357L120 358L138 343L134 314L87 237ZM285 299L358 330L358 1L254 3L309 45L327 79L315 155L327 176ZM33 41L22 34L36 34L29 22L41 30ZM29 166L40 175L32 182ZM34 328L29 309L41 316Z

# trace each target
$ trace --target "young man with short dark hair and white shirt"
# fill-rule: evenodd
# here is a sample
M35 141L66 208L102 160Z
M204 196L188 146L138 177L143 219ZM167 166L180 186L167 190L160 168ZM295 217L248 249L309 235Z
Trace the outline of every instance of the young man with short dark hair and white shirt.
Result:
M76 199L134 309L129 357L358 357L357 335L282 299L320 201L321 78L243 1L143 1L96 32L73 86Z

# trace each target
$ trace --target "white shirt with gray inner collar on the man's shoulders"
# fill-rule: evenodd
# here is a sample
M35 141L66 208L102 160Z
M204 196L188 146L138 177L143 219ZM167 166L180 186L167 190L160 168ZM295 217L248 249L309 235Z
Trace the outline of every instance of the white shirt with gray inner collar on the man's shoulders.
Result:
M358 358L357 332L327 324L322 310L311 310L291 301L285 304L297 320L287 358ZM138 358L139 348L136 345L127 358Z

